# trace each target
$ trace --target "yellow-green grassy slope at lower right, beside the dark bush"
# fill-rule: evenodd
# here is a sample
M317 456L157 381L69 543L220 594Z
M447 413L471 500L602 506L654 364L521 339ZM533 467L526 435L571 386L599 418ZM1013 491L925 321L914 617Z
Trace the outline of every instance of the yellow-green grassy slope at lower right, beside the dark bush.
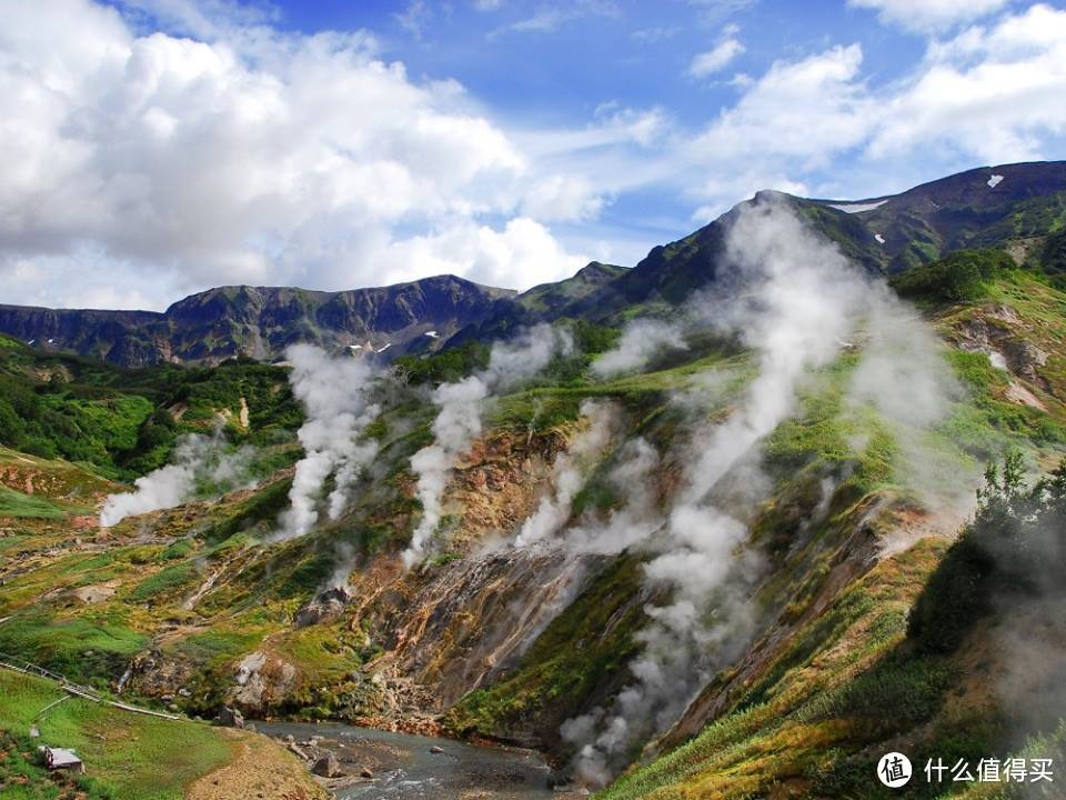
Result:
M872 768L855 771L865 781L858 793L841 773L853 750L923 724L951 683L944 662L912 659L903 647L906 609L942 551L921 542L855 581L725 713L597 798L740 800L797 780L808 787L804 797L871 796ZM885 714L887 702L903 712ZM821 792L811 787L818 781Z

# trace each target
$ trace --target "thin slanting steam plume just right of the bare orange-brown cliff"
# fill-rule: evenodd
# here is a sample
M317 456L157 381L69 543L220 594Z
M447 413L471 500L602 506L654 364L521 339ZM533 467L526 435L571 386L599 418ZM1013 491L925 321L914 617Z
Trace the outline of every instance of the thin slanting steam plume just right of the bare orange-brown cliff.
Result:
M581 414L589 420L589 427L574 439L570 449L556 456L552 466L554 491L541 498L536 511L522 523L522 530L514 540L515 547L529 547L551 537L566 523L574 498L585 484L589 470L611 441L617 421L617 410L613 406L585 400L581 404Z

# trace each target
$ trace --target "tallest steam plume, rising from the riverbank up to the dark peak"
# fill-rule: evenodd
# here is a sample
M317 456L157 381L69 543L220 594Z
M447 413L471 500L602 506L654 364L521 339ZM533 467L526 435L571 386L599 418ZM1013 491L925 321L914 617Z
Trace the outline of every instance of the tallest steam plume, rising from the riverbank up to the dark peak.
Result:
M869 281L775 200L738 208L723 269L733 293L708 318L756 352L758 374L733 416L694 437L682 488L647 540L658 554L646 580L670 601L645 609L634 681L610 712L596 709L562 728L579 746L576 769L590 783L605 782L634 744L675 721L746 642L758 560L745 551L746 526L714 503L713 491L793 411L800 378L837 354L872 297ZM634 538L622 533L622 541Z

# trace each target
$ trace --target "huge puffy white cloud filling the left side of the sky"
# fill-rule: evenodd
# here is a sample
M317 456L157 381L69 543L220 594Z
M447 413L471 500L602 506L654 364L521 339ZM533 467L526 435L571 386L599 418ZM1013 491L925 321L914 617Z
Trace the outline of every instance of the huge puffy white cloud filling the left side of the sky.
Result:
M530 180L526 156L461 87L413 82L365 32L138 36L88 0L0 0L0 262L49 264L56 282L56 258L69 257L50 302L131 272L150 278L149 296L153 284L375 284L379 261L405 241L418 249L400 229L462 242L436 258L522 288L574 259L509 216L587 218L603 202L584 176ZM100 257L79 270L87 243ZM152 306L174 299L158 291Z

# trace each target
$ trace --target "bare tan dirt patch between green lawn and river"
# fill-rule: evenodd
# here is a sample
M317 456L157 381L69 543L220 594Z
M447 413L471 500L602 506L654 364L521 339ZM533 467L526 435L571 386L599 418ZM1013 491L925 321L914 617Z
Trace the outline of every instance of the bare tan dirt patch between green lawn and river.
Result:
M185 792L189 800L324 800L328 796L296 758L265 737L227 731L237 757Z

